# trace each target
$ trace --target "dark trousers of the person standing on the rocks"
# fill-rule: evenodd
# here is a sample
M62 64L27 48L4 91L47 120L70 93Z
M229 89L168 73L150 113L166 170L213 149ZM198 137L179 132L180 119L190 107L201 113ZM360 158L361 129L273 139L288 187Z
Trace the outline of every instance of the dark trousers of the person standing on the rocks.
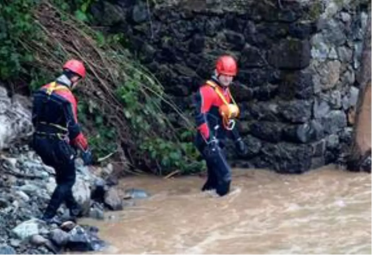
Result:
M53 218L63 202L70 210L70 215L76 216L80 212L80 208L72 193L72 187L76 179L74 150L66 140L57 136L38 134L33 136L33 149L45 165L55 169L56 174L57 186L44 212L44 218Z

